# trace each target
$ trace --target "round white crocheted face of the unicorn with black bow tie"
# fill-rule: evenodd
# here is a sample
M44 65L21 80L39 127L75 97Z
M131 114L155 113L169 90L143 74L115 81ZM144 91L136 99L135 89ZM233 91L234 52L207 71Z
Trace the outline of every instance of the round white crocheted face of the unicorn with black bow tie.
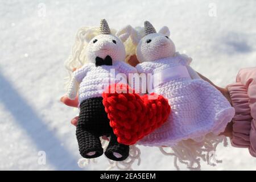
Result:
M117 36L101 34L90 40L86 56L92 63L95 63L96 57L105 59L106 56L110 56L113 61L124 61L125 46Z

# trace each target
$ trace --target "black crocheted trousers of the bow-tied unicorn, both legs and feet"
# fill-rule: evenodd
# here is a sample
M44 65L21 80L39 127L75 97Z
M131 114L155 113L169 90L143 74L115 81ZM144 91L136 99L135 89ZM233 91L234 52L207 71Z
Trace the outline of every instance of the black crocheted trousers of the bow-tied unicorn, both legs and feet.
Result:
M84 158L97 158L103 154L100 137L110 135L109 146L105 155L112 160L124 160L129 155L129 146L117 142L117 137L109 125L108 115L102 105L102 97L90 98L81 103L79 121L76 128L76 137L79 143L80 154ZM88 155L95 152L94 155ZM116 158L113 152L121 154Z

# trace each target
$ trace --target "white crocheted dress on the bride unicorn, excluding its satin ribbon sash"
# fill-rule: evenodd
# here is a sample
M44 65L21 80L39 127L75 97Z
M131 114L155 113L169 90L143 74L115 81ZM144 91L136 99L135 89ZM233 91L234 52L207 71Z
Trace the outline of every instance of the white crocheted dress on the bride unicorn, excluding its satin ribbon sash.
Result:
M177 54L137 65L139 73L160 73L167 68L185 66L191 59ZM166 123L141 139L145 146L175 146L185 139L200 141L208 133L220 134L234 116L234 109L221 92L200 78L176 77L154 90L168 99L172 112Z

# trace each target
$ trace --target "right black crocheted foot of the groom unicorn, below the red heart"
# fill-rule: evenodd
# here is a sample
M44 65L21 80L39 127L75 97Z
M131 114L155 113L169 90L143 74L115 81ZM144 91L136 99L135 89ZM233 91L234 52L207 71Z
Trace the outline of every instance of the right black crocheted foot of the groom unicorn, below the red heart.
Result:
M122 161L125 160L129 156L129 146L126 146L125 144L121 144L117 142L117 137L115 134L110 134L110 142L109 146L105 151L105 155L115 161Z

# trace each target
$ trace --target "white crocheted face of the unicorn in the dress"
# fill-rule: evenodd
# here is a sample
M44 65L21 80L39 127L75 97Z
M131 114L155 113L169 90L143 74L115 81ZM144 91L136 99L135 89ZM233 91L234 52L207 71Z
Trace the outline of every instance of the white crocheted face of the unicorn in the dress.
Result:
M153 33L144 36L137 46L137 57L140 63L155 61L175 55L175 45L168 36Z

